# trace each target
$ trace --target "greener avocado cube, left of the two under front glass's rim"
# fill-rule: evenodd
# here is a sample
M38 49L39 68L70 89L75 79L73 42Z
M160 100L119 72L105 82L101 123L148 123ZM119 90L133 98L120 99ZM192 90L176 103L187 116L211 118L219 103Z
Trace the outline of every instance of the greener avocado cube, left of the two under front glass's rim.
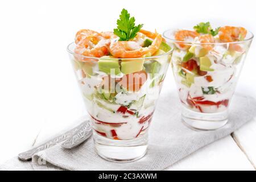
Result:
M101 72L105 72L108 75L114 73L118 75L120 71L119 61L117 59L111 59L110 56L103 56L98 60L98 68Z

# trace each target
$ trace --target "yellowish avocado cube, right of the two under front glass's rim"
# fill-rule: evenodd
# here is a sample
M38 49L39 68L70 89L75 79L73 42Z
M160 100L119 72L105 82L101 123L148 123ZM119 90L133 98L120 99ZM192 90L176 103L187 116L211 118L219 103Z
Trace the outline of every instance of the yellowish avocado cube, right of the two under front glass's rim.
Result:
M142 71L143 69L143 59L131 59L131 60L125 60L121 62L121 72L123 74L130 74L134 72Z

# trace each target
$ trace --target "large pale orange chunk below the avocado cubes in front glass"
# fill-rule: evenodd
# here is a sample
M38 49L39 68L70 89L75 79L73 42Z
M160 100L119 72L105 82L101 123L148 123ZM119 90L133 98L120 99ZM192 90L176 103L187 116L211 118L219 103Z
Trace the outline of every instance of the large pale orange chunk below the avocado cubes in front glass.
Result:
M138 92L146 81L147 73L145 71L139 71L123 76L119 84L129 91Z

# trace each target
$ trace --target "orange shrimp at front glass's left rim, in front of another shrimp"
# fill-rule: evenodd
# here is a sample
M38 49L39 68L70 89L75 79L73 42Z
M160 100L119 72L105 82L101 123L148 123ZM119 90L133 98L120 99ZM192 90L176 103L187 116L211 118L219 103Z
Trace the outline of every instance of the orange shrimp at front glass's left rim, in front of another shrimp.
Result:
M96 45L90 39L80 40L74 52L89 57L102 57L109 55L110 40L100 40Z

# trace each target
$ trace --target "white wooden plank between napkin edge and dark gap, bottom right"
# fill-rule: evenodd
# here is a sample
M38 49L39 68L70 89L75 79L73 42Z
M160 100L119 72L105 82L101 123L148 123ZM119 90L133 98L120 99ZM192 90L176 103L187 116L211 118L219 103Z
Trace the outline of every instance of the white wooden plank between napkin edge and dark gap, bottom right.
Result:
M166 170L254 170L229 135L201 148Z

